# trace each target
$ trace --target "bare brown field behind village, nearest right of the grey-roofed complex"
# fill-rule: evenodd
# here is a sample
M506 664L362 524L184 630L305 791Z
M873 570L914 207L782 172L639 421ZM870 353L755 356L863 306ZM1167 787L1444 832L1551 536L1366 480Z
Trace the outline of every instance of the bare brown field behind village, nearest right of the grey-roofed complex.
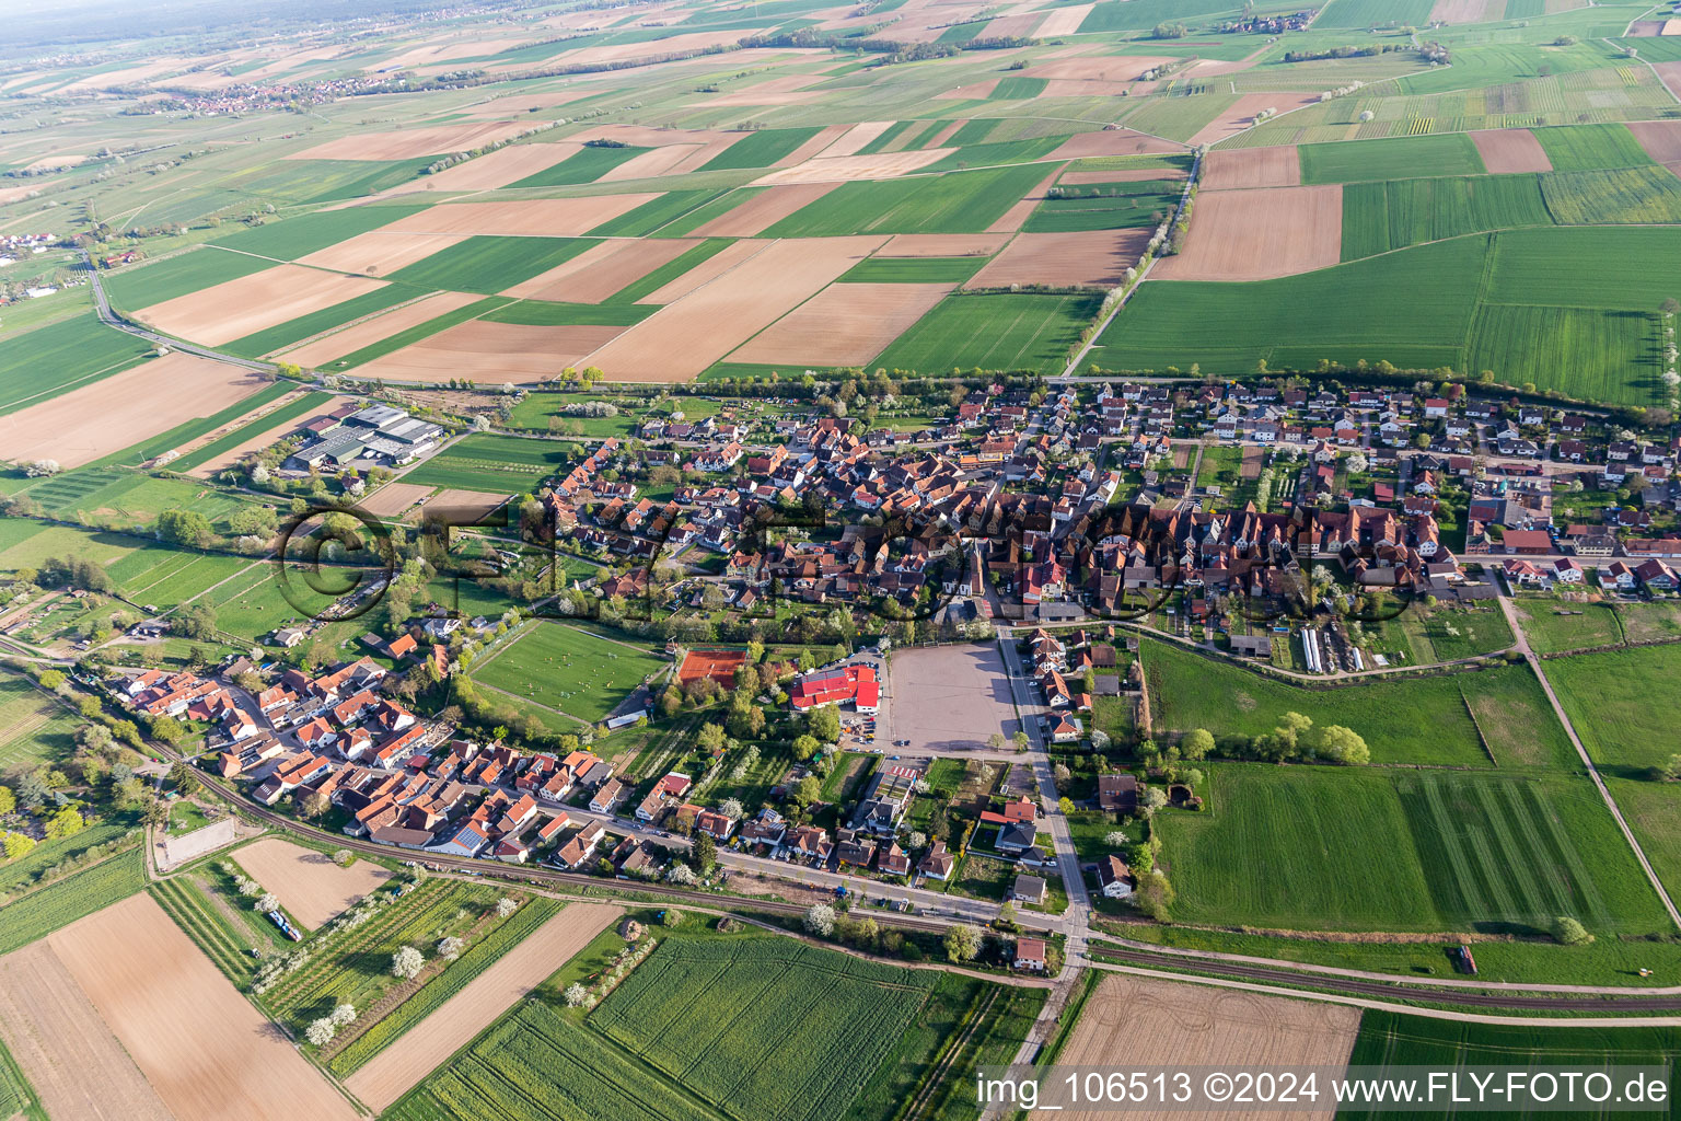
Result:
M543 382L577 365L620 331L622 326L533 326L469 319L375 358L358 375L390 382L447 382L461 376L472 382Z

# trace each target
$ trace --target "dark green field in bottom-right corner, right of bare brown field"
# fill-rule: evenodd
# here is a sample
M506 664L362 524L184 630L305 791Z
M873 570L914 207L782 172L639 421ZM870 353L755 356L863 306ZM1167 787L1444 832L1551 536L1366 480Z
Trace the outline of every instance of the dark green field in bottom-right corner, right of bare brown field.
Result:
M1516 0L1513 0L1516 2ZM1481 953L1478 958L1481 960ZM1600 1071L1609 1066L1669 1067L1681 1055L1681 1032L1673 1027L1560 1027L1558 1024L1466 1024L1395 1012L1365 1012L1348 1055L1352 1066L1372 1067L1545 1067ZM1663 1108L1651 1116L1673 1113ZM1573 1109L1558 1116L1634 1116L1620 1109ZM1341 1106L1346 1121L1417 1118L1404 1109Z

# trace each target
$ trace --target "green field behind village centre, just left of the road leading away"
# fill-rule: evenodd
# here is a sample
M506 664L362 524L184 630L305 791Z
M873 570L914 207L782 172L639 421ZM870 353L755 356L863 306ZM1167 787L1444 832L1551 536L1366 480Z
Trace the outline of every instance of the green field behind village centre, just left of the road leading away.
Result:
M1099 303L1096 296L948 296L869 365L923 373L1059 370Z

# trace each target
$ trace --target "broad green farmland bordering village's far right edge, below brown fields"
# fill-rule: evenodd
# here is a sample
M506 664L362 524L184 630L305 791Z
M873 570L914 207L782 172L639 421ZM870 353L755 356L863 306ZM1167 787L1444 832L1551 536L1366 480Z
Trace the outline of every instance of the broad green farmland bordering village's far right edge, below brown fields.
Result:
M1567 397L1661 400L1656 309L1676 227L1520 229L1276 281L1148 281L1086 370L1313 370L1321 360L1493 370ZM1395 299L1405 292L1407 299Z

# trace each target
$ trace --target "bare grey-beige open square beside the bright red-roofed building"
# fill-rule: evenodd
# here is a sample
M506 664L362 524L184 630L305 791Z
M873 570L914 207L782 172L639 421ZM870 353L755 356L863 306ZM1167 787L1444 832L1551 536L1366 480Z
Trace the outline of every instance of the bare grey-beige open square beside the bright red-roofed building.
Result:
M891 681L889 733L911 741L908 753L973 751L1019 728L995 644L894 650Z

